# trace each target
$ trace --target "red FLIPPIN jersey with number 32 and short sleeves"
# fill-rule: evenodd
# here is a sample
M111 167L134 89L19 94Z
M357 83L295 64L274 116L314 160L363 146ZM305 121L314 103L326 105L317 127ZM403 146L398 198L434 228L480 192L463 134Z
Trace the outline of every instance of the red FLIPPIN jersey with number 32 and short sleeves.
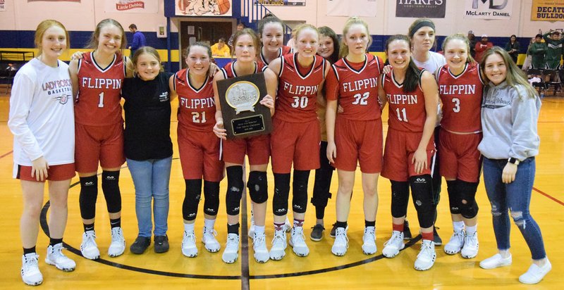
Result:
M378 103L378 77L384 63L378 56L367 53L364 62L350 63L341 58L331 65L325 83L328 101L339 101L343 113L338 117L349 120L377 120L381 117Z

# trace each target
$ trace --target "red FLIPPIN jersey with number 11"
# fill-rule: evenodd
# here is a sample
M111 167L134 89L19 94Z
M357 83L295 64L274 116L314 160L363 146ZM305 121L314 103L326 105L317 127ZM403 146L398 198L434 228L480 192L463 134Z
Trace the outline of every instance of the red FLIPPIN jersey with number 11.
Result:
M382 79L382 87L388 99L388 126L394 130L403 132L423 132L423 126L427 119L425 111L425 96L421 89L421 75L419 73L419 85L413 92L404 92L403 84L399 84L393 78L393 70L386 73Z

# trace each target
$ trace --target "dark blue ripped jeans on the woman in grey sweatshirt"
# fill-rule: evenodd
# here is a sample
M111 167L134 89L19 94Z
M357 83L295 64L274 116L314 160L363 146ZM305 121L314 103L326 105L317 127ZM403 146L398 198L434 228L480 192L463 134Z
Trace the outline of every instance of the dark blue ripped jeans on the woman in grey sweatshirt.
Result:
M507 160L484 158L484 185L491 203L498 250L510 248L509 210L513 222L529 246L533 260L540 260L546 257L544 241L539 225L529 214L535 172L534 157L523 160L517 166L515 181L510 184L501 181L501 174L506 164Z

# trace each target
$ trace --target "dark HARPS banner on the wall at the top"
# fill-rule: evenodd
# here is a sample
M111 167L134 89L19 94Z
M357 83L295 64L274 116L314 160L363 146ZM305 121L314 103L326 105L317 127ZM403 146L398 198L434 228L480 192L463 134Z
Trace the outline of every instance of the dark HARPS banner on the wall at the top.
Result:
M445 18L446 0L396 1L396 17Z

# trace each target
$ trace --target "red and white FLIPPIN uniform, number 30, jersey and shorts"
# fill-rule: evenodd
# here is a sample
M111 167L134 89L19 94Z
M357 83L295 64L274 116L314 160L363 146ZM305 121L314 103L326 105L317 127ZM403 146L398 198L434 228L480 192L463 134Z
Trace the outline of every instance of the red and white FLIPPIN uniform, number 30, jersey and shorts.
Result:
M276 114L271 134L272 171L290 173L319 168L321 132L317 121L317 94L325 79L326 61L314 56L309 68L298 63L298 53L281 57Z

